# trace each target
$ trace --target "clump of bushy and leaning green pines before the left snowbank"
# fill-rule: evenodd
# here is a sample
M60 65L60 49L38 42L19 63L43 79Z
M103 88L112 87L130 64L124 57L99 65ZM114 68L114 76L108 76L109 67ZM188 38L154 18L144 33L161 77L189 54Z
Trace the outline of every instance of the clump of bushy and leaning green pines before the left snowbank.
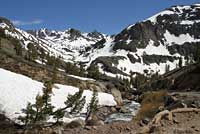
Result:
M74 95L68 95L64 108L54 110L51 105L52 87L51 81L44 83L43 94L36 96L34 104L28 103L27 107L22 109L25 116L20 116L18 119L25 127L46 123L50 117L53 117L57 124L65 114L78 114L83 109L86 100L82 97L83 91L80 90ZM68 108L70 112L66 111Z

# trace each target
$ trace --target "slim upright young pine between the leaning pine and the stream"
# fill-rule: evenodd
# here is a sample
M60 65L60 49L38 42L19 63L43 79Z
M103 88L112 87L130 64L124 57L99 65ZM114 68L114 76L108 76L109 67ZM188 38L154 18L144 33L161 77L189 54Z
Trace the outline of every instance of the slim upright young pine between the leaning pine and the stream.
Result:
M90 117L94 116L98 110L98 93L97 91L93 91L92 99L90 103L87 106L87 113L86 113L86 119L85 121L87 122Z

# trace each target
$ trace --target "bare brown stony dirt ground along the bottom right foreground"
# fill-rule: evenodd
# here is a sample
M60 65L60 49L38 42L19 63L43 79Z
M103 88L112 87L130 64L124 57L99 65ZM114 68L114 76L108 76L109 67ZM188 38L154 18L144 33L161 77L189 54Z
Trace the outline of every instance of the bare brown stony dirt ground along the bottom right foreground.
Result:
M113 124L66 129L64 134L140 134L144 128L139 123L117 122ZM173 121L162 119L161 124L151 130L152 134L200 134L200 112L175 113Z

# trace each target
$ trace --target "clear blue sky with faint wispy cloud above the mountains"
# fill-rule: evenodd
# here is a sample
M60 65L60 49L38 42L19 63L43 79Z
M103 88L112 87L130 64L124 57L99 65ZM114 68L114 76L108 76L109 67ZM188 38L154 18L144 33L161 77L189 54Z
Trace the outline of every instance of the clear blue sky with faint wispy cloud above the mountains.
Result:
M22 29L76 28L115 34L170 6L194 3L200 0L2 0L0 16Z

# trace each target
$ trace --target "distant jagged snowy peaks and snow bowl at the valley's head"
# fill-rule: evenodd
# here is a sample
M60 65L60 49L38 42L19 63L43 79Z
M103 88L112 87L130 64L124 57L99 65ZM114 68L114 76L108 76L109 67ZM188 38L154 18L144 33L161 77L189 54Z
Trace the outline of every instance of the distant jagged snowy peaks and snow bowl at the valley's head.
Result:
M81 52L84 52L86 47L108 37L97 31L84 33L73 28L65 31L40 29L28 30L27 32L47 44L49 48L53 49L54 54L56 53L65 61L70 62L74 61Z

